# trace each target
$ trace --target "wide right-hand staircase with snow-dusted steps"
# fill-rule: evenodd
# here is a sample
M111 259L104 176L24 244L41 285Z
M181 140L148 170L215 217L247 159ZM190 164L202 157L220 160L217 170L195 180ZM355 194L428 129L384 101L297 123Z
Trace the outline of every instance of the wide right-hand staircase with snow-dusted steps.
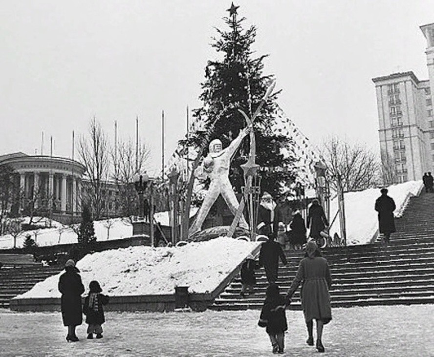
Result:
M388 247L379 242L363 246L327 248L333 285L333 307L434 303L434 194L412 197L395 220L397 232ZM277 283L284 294L297 272L303 252L288 252ZM263 268L256 273L255 294L239 295L239 275L212 305L214 310L260 309L267 282ZM301 309L300 288L290 309Z

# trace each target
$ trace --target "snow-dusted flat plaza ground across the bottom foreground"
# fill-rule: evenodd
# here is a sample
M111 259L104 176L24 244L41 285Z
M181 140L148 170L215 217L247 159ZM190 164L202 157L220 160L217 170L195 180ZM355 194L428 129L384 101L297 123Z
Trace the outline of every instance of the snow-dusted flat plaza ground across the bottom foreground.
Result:
M303 313L287 312L285 356L314 356ZM333 310L325 356L434 356L434 305ZM106 313L104 338L67 343L60 313L0 310L0 356L273 356L259 311Z

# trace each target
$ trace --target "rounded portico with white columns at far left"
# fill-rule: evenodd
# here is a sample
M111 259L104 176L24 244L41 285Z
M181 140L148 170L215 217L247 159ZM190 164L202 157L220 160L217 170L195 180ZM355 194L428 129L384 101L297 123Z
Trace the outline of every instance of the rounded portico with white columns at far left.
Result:
M0 157L17 173L21 210L50 210L54 215L77 216L81 212L82 178L85 167L77 161L54 156L14 153ZM17 182L18 183L18 182Z

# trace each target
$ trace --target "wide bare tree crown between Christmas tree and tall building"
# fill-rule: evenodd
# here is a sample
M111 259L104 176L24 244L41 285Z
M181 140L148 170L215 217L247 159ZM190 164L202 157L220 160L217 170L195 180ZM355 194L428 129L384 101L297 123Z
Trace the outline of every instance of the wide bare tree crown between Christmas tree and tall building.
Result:
M365 145L349 144L336 136L323 141L319 152L327 168L331 189L337 189L336 177L344 191L367 189L378 184L380 164L375 153Z

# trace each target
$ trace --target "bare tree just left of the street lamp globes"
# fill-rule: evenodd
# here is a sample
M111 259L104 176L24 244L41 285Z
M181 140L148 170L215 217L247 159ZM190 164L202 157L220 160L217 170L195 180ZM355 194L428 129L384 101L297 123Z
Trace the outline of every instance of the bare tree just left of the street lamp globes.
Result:
M137 192L134 189L133 177L146 168L150 150L141 144L137 150L131 140L121 141L111 151L113 163L113 181L116 184L117 197L115 205L119 214L132 223L132 216L137 214Z

